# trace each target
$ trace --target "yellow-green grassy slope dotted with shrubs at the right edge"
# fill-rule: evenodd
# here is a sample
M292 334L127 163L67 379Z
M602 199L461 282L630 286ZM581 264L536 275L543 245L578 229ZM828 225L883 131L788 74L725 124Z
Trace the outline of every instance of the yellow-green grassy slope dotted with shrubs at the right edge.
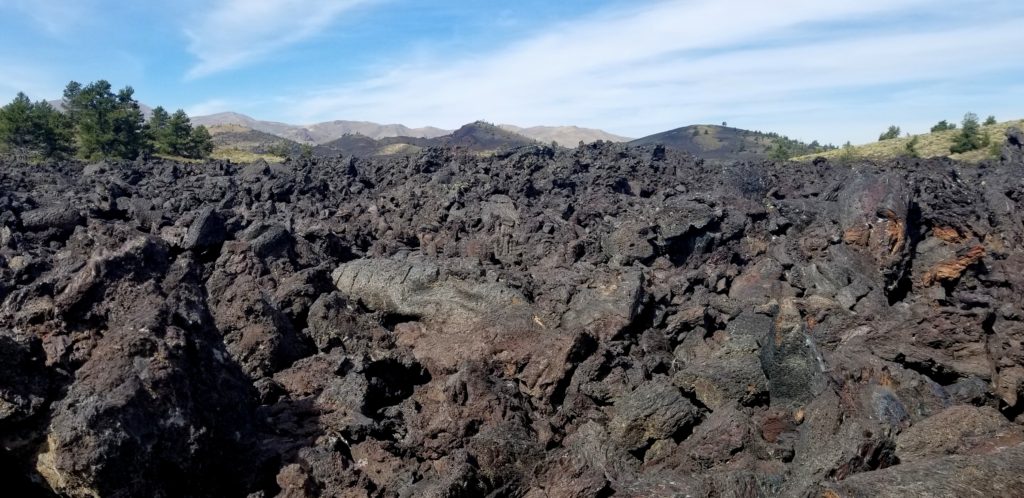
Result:
M794 158L796 161L811 161L817 157L827 159L870 159L886 160L900 156L913 156L922 158L948 157L958 161L980 162L985 159L998 157L998 151L1006 141L1007 129L1011 126L1024 129L1024 120L1006 121L993 125L983 125L982 135L988 135L989 147L971 151L964 154L952 154L949 148L953 144L953 138L959 129L936 131L932 133L922 133L920 135L901 136L890 140L881 140L863 146L852 146L836 151L828 151L819 154L808 154ZM913 154L907 144L916 139L913 146Z

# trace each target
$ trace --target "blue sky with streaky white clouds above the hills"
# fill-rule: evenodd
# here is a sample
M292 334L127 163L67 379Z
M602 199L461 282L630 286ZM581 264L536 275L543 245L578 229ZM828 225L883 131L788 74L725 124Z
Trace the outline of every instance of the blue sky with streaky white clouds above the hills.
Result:
M0 0L0 100L70 80L310 124L872 141L1024 118L1020 0Z

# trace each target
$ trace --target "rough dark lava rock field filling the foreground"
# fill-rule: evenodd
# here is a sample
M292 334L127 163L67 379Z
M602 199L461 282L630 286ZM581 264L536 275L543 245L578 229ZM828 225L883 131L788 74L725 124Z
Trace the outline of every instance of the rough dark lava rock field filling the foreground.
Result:
M1024 495L1024 154L0 162L12 496Z

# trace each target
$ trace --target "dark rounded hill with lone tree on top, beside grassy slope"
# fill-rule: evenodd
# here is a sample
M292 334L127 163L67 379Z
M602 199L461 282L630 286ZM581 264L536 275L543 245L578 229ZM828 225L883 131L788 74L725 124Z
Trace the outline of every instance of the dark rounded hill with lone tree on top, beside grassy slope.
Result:
M782 147L787 157L824 151L816 142L799 140L761 131L718 125L691 125L656 133L630 142L634 146L660 143L713 161L756 161L769 159L773 149Z

